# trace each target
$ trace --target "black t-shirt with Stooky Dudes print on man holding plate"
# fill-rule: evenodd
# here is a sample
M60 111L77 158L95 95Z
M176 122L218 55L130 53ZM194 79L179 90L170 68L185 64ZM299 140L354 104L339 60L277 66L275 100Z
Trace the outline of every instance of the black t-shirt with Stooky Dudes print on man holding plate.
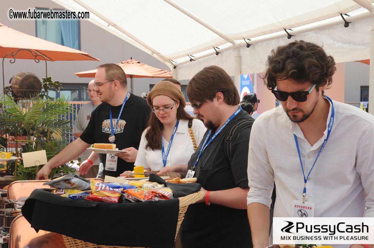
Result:
M111 135L109 107L110 105L108 103L101 103L95 111L92 112L90 122L80 136L80 139L89 144L110 143L108 140L109 135ZM113 128L117 123L121 107L122 104L119 106L111 106ZM130 95L123 107L117 130L114 133L116 137L114 141L116 148L119 150L129 147L139 149L141 134L147 127L150 111L147 101L134 94ZM99 154L99 157L104 164L104 176L117 177L123 173L123 171L134 169L134 163L129 163L122 158L118 158L116 171L105 170L106 154Z

